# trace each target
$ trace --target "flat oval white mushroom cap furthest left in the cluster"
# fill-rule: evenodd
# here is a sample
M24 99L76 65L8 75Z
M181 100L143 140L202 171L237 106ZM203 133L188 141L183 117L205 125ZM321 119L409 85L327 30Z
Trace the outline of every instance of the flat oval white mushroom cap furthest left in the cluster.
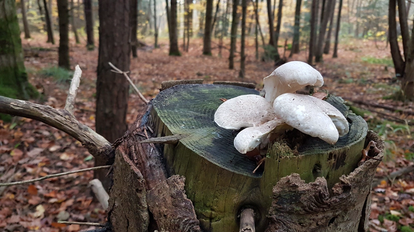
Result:
M214 114L214 121L225 129L258 126L274 117L272 106L258 95L241 95L225 101Z

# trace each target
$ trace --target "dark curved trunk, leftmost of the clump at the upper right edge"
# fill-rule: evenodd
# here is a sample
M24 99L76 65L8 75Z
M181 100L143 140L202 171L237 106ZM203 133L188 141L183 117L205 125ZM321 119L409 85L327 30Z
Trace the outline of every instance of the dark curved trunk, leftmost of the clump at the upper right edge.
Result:
M405 63L402 59L400 48L397 41L396 0L390 0L388 9L388 36L390 39L391 57L394 62L395 73L402 77L404 75Z

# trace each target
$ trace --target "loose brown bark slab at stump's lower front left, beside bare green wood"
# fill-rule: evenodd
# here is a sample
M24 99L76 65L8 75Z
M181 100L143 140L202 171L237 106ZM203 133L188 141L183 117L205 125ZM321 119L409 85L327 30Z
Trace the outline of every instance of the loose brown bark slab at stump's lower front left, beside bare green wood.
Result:
M147 193L148 208L167 231L201 231L194 207L184 191L185 177L173 175Z

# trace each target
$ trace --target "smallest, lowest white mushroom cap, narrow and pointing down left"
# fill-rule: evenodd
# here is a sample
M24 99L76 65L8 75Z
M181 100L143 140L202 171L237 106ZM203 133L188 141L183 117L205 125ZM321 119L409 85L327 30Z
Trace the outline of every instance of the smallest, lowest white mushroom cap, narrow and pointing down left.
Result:
M277 119L259 126L248 127L236 135L234 147L241 154L246 154L265 142L269 133L278 125L281 125L281 121Z

